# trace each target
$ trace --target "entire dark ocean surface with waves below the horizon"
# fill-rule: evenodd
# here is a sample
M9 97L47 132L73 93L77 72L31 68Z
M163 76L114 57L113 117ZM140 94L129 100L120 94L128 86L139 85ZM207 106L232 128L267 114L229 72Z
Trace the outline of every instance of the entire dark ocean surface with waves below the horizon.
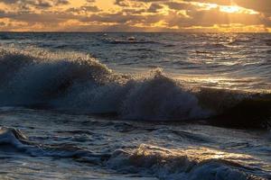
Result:
M271 179L270 33L0 32L0 179Z

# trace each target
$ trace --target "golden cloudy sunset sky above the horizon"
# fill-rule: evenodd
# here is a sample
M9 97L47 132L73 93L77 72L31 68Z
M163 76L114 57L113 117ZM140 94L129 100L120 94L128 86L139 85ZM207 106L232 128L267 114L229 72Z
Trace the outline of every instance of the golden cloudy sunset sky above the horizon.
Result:
M0 31L271 32L271 0L0 0Z

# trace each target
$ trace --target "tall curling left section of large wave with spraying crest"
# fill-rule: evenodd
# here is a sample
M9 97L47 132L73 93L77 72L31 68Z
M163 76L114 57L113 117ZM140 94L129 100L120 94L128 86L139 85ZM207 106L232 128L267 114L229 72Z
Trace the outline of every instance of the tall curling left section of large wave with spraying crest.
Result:
M111 70L89 56L50 53L46 50L1 49L1 103L50 103L71 85L91 82L101 85ZM110 75L110 76L109 76Z

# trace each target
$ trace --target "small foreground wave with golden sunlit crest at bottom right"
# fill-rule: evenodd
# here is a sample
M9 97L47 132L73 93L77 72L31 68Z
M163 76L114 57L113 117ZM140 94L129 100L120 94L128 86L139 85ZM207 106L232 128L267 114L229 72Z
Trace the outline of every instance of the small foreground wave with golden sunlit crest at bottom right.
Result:
M250 175L255 173L252 168L226 159L231 156L232 159L244 159L244 155L219 154L220 158L215 158L216 152L206 148L171 150L143 144L132 150L117 150L107 161L107 166L122 173L154 175L171 180L264 179Z

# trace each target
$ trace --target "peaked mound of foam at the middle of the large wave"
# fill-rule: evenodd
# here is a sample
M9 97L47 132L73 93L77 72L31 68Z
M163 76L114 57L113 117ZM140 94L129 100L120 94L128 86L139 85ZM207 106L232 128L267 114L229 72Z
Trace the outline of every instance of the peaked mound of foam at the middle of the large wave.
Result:
M124 101L122 114L127 119L190 120L209 115L197 97L161 71L135 82Z

